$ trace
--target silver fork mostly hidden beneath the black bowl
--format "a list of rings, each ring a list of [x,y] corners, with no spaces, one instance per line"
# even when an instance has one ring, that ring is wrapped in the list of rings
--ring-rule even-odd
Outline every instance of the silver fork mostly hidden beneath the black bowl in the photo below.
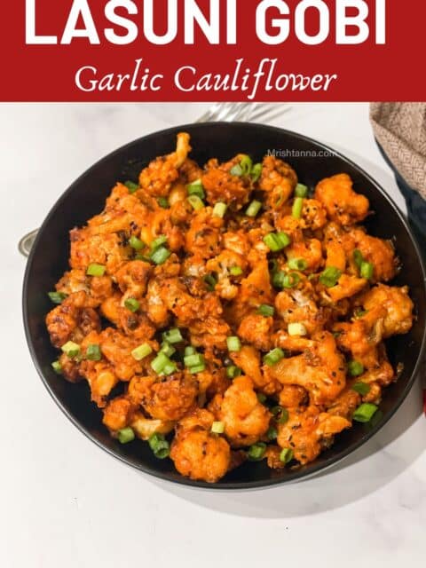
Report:
[[[215,103],[195,122],[269,122],[288,113],[290,108],[277,103]],[[38,229],[22,237],[18,244],[22,255],[29,255],[37,233]]]

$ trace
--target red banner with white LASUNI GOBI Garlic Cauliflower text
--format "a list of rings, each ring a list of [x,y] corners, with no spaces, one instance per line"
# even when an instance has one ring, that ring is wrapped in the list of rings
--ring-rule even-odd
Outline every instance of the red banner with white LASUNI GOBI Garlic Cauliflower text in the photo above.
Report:
[[[424,100],[426,6],[14,0],[4,101]]]

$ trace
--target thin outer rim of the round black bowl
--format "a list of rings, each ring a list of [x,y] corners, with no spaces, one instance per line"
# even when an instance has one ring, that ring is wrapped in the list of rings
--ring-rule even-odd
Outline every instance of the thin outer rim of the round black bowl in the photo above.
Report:
[[[57,395],[51,389],[46,377],[43,374],[43,370],[42,370],[42,368],[39,364],[37,354],[36,354],[36,346],[35,346],[35,343],[33,342],[32,335],[29,331],[29,324],[28,324],[29,307],[28,307],[28,302],[27,302],[27,300],[28,300],[29,275],[30,275],[30,272],[31,272],[32,264],[34,262],[34,258],[36,256],[36,250],[38,248],[38,243],[41,240],[41,237],[43,235],[44,230],[50,224],[51,217],[53,217],[55,215],[55,213],[56,213],[57,209],[59,209],[62,201],[65,201],[66,198],[67,198],[67,195],[74,191],[75,186],[78,185],[81,182],[83,177],[90,175],[92,170],[99,168],[99,166],[102,166],[102,164],[104,162],[110,160],[114,156],[117,156],[119,154],[124,153],[126,150],[130,149],[132,146],[136,146],[137,144],[139,144],[143,141],[149,140],[149,138],[155,138],[155,137],[158,137],[158,136],[168,136],[168,135],[171,137],[171,136],[175,136],[177,134],[177,132],[179,132],[179,131],[194,130],[194,129],[195,130],[202,130],[203,128],[211,128],[212,126],[218,127],[218,128],[230,128],[230,127],[232,128],[233,126],[237,126],[237,127],[243,127],[245,129],[253,129],[253,130],[259,130],[259,131],[268,130],[270,132],[271,131],[276,132],[277,135],[285,134],[287,136],[296,138],[298,140],[303,140],[304,142],[307,142],[307,143],[309,143],[313,146],[316,146],[318,149],[326,151],[326,152],[330,153],[331,155],[334,155],[335,157],[339,158],[343,162],[346,162],[349,165],[351,165],[351,167],[354,168],[355,170],[357,170],[361,176],[367,178],[368,182],[371,185],[375,186],[375,189],[381,194],[381,196],[383,197],[384,200],[388,201],[390,207],[397,214],[399,222],[406,229],[406,233],[409,235],[409,237],[412,241],[415,253],[417,255],[417,260],[420,264],[420,270],[422,272],[422,287],[424,288],[425,295],[426,295],[426,268],[425,268],[425,264],[424,264],[423,259],[422,259],[422,254],[421,254],[419,244],[418,244],[418,242],[417,242],[417,240],[414,236],[414,233],[413,233],[410,225],[408,224],[408,222],[406,220],[406,217],[404,217],[402,212],[398,209],[397,204],[395,203],[395,201],[393,201],[393,199],[390,197],[390,195],[384,191],[382,185],[380,185],[378,182],[376,182],[375,179],[373,177],[371,177],[367,173],[367,171],[363,170],[357,163],[353,162],[350,158],[346,157],[341,152],[336,151],[331,146],[327,146],[326,144],[319,142],[319,140],[304,136],[303,134],[300,134],[300,133],[295,132],[293,130],[282,129],[282,128],[279,128],[279,127],[269,126],[267,124],[261,124],[261,123],[256,123],[256,122],[198,122],[198,123],[197,122],[190,122],[190,123],[183,124],[183,125],[173,126],[173,127],[168,128],[168,129],[155,130],[154,132],[150,132],[146,136],[135,138],[134,140],[130,141],[129,143],[127,143],[123,146],[120,146],[119,148],[115,149],[114,151],[110,152],[109,154],[106,154],[105,156],[100,158],[97,162],[92,164],[90,168],[85,170],[79,177],[77,177],[75,179],[75,181],[71,185],[69,185],[67,187],[67,189],[63,193],[61,193],[59,195],[59,198],[52,205],[49,213],[44,218],[43,224],[40,226],[40,229],[39,229],[37,236],[36,236],[36,240],[33,244],[33,247],[31,248],[31,252],[28,256],[28,261],[27,261],[27,265],[26,265],[26,269],[25,269],[25,273],[24,273],[24,279],[23,279],[23,288],[22,288],[22,312],[23,312],[23,320],[24,320],[24,327],[25,327],[25,335],[26,335],[26,339],[27,339],[27,343],[28,343],[28,349],[30,351],[31,358],[33,359],[33,363],[36,367],[36,371],[37,371],[38,375],[40,376],[40,378],[41,378],[41,380],[44,384],[44,387],[46,388],[46,390],[51,395],[51,398],[53,398],[53,400],[55,401],[57,406],[59,406],[62,413],[67,416],[67,419],[70,422],[72,422],[75,425],[75,427],[84,434],[84,436],[86,438],[89,438],[91,440],[91,442],[96,444],[96,446],[99,446],[99,448],[104,450],[107,454],[112,455],[116,460],[122,461],[122,463],[125,463],[126,465],[130,466],[131,468],[138,469],[138,471],[141,471],[142,473],[145,473],[147,475],[157,477],[157,478],[160,478],[160,479],[165,480],[165,481],[169,481],[170,483],[173,483],[173,484],[185,485],[185,486],[198,488],[198,489],[210,489],[210,490],[213,489],[215,491],[230,491],[230,490],[244,491],[244,490],[260,489],[260,488],[265,489],[265,488],[271,488],[275,485],[286,485],[288,483],[292,483],[292,482],[296,482],[296,481],[302,481],[304,479],[308,479],[308,478],[315,476],[316,474],[319,473],[319,471],[325,471],[325,470],[331,468],[332,466],[335,466],[337,463],[343,461],[344,458],[346,458],[349,454],[352,454],[357,449],[359,449],[360,446],[363,446],[364,444],[366,444],[366,442],[370,438],[373,438],[379,430],[382,430],[382,428],[385,426],[385,424],[390,421],[390,418],[392,418],[392,416],[394,414],[396,414],[398,408],[402,405],[402,403],[406,399],[406,396],[408,395],[408,393],[410,392],[410,390],[412,389],[412,387],[415,383],[415,380],[417,378],[417,375],[419,373],[419,369],[420,369],[420,366],[421,366],[421,363],[422,363],[423,356],[424,356],[425,351],[426,351],[426,327],[423,329],[422,344],[421,344],[420,350],[417,354],[417,359],[416,359],[416,362],[415,362],[415,365],[414,365],[414,371],[413,371],[412,375],[410,376],[410,378],[407,380],[405,389],[399,395],[399,398],[396,401],[394,407],[392,408],[392,410],[388,414],[386,414],[384,419],[382,421],[380,421],[379,423],[377,423],[373,428],[366,431],[365,434],[361,438],[359,438],[359,440],[357,442],[351,444],[350,446],[345,448],[342,452],[340,452],[339,454],[337,454],[333,457],[330,457],[326,461],[321,461],[317,465],[310,466],[309,470],[305,470],[304,468],[301,468],[301,469],[295,469],[294,471],[288,471],[288,473],[286,473],[285,477],[276,477],[276,478],[271,478],[271,479],[248,481],[248,482],[244,482],[244,481],[229,481],[229,482],[224,481],[224,482],[219,482],[217,484],[209,484],[205,481],[194,481],[193,479],[189,479],[188,477],[179,476],[178,474],[177,474],[176,477],[170,477],[169,472],[163,472],[163,471],[151,469],[150,467],[146,466],[146,464],[141,463],[141,462],[136,461],[136,460],[133,460],[130,457],[120,455],[117,452],[115,452],[113,448],[109,448],[109,447],[105,446],[98,438],[93,436],[89,430],[86,430],[86,428],[77,419],[75,419],[75,417],[71,414],[71,412],[68,411],[66,406],[64,406],[64,404],[61,402],[59,397],[57,397]]]

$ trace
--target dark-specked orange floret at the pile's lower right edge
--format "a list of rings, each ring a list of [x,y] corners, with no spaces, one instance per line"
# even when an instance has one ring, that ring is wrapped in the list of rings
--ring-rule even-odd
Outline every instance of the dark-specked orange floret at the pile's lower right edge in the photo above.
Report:
[[[288,422],[278,424],[277,441],[281,448],[293,450],[295,459],[304,464],[315,460],[330,438],[350,426],[342,416],[309,406],[305,411],[290,412]]]

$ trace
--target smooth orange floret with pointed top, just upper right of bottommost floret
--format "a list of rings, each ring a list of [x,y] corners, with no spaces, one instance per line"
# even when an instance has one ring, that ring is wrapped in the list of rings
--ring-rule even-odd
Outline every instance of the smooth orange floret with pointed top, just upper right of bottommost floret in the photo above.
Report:
[[[253,381],[237,377],[223,397],[212,401],[217,408],[217,420],[225,424],[225,436],[233,447],[251,446],[269,428],[272,414],[256,396]]]

